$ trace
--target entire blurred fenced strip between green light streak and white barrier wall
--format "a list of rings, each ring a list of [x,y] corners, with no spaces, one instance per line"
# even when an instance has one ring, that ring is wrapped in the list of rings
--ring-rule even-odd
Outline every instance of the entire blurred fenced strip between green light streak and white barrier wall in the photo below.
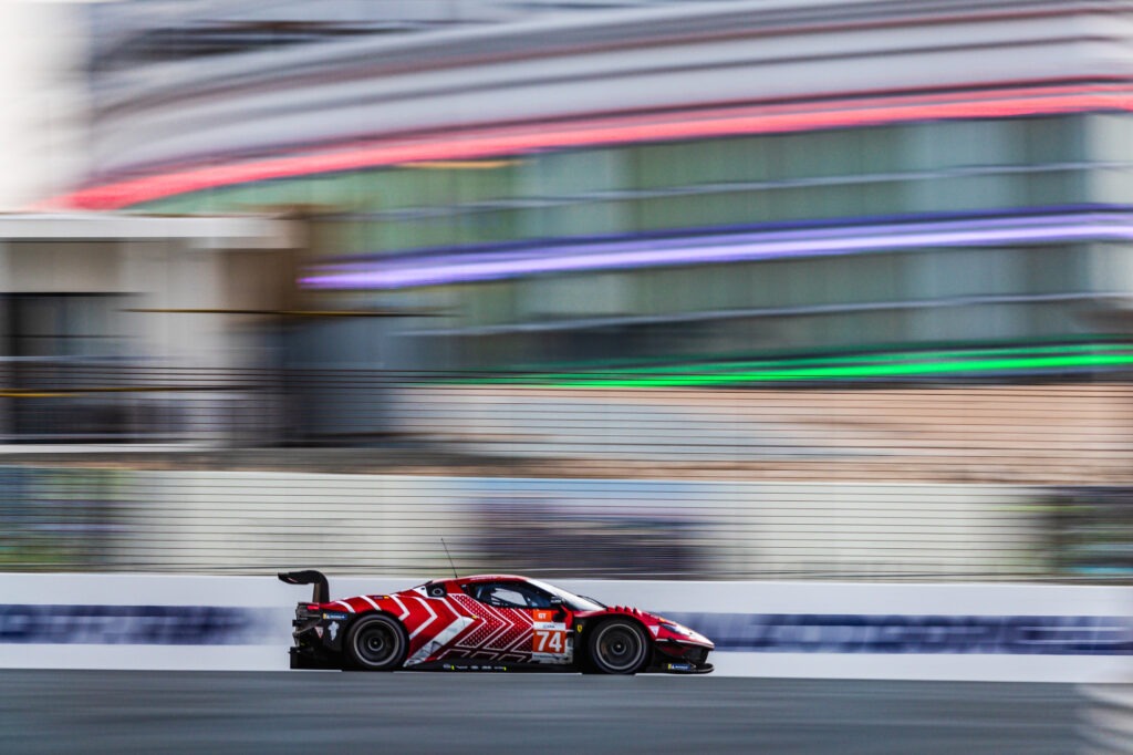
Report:
[[[117,407],[97,446],[69,432],[78,401]],[[0,568],[441,572],[444,536],[466,571],[1128,579],[1131,401],[1118,381],[73,374],[0,396]]]

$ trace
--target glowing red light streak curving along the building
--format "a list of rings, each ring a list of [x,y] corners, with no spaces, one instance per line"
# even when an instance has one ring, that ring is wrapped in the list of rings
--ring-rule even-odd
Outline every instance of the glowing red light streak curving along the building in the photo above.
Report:
[[[179,169],[90,186],[40,209],[116,210],[164,197],[254,181],[296,178],[407,162],[479,160],[582,146],[782,134],[923,120],[1013,118],[1133,110],[1128,86],[1047,86],[900,95],[480,128],[420,141],[377,141],[320,152],[224,166]]]

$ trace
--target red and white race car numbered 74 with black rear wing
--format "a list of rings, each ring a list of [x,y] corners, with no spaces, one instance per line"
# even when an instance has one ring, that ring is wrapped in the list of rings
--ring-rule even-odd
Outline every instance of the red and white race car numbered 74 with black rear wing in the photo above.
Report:
[[[330,600],[315,570],[296,609],[292,669],[708,673],[713,643],[662,617],[607,606],[536,579],[436,579],[390,595]]]

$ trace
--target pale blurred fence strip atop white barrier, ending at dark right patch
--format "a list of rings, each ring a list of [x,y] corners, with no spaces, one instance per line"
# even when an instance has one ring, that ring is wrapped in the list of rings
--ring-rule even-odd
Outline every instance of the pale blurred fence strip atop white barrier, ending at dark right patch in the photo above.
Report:
[[[1039,491],[996,485],[9,467],[10,568],[994,578],[1060,570]],[[1073,570],[1063,570],[1073,575]]]

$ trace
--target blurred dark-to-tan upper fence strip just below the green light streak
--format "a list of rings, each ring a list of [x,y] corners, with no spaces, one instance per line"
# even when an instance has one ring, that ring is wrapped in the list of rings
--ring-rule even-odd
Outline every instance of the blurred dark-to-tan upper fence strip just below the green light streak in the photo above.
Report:
[[[121,365],[24,366],[18,378],[0,388],[0,439],[28,448],[410,443],[561,476],[1133,484],[1133,384],[1113,378],[604,388]]]

